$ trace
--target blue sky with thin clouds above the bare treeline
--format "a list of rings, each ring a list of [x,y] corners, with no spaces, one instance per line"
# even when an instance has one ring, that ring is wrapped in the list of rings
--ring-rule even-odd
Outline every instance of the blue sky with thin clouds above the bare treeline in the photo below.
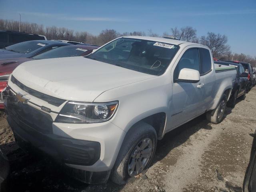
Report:
[[[0,18],[98,35],[192,26],[228,37],[231,51],[256,56],[256,0],[0,0]]]

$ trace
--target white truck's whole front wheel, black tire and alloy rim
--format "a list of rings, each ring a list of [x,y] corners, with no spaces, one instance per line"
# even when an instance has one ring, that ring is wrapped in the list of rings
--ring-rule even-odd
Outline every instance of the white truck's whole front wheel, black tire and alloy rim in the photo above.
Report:
[[[154,157],[156,143],[156,130],[151,125],[139,122],[132,126],[132,128],[127,132],[116,158],[115,165],[112,169],[111,180],[116,184],[126,184],[131,178],[134,178],[134,176],[140,173],[146,173]],[[142,144],[148,144],[144,150],[140,150],[139,148]],[[152,148],[152,150],[150,150],[150,148]],[[148,158],[142,157],[142,154],[140,153],[141,151],[150,151],[146,156]],[[136,163],[136,159],[137,161],[139,159],[141,164],[139,162]],[[143,168],[137,169],[138,165]]]

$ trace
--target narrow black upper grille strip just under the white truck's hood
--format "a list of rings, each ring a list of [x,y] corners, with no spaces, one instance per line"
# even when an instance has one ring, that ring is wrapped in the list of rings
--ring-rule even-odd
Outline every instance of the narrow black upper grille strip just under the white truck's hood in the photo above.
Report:
[[[40,98],[46,102],[48,102],[49,104],[52,104],[54,106],[60,106],[62,103],[64,103],[66,100],[64,99],[59,99],[50,95],[46,95],[44,93],[41,93],[39,91],[36,91],[34,89],[31,89],[29,87],[27,87],[26,85],[22,84],[21,82],[19,82],[13,75],[11,77],[11,82],[16,84],[19,88],[21,88],[22,90],[28,92],[30,95],[35,96],[37,98]]]

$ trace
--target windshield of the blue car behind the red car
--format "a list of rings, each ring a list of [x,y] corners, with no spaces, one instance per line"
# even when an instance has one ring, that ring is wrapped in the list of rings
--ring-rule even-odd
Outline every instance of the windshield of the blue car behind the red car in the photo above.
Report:
[[[42,43],[39,41],[25,41],[21,43],[17,43],[11,46],[6,47],[5,49],[8,51],[28,54],[34,50],[40,49],[44,46],[48,45],[48,43]]]

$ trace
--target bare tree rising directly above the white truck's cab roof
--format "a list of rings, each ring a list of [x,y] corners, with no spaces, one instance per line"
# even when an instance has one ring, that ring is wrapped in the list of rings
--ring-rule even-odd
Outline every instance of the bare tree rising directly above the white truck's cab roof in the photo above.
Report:
[[[192,40],[196,40],[196,29],[193,29],[190,26],[182,27],[180,30],[177,27],[171,28],[171,31],[174,38],[182,41],[191,42]]]

